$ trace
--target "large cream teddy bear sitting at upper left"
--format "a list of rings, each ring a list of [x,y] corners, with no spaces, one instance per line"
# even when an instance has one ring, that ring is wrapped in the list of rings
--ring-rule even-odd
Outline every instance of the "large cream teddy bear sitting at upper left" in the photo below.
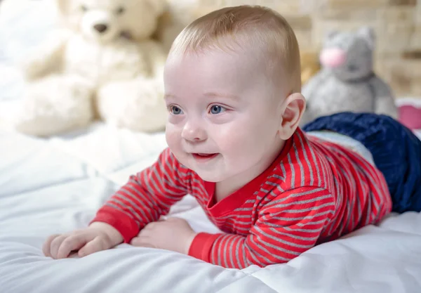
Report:
[[[25,60],[15,129],[51,136],[93,119],[164,129],[166,53],[152,39],[164,0],[54,0],[64,25]]]

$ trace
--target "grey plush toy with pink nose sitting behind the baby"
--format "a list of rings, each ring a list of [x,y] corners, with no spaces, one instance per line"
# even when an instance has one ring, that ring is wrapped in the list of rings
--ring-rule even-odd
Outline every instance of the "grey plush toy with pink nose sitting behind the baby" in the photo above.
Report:
[[[347,111],[397,117],[392,90],[373,72],[374,43],[370,27],[328,34],[320,54],[322,69],[302,87],[307,100],[302,125]]]

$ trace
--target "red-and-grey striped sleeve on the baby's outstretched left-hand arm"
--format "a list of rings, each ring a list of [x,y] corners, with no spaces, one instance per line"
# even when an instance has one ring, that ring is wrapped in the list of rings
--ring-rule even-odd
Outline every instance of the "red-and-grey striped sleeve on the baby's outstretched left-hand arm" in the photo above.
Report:
[[[113,226],[128,243],[139,231],[168,214],[171,206],[187,195],[187,174],[167,148],[151,167],[130,176],[91,221]]]

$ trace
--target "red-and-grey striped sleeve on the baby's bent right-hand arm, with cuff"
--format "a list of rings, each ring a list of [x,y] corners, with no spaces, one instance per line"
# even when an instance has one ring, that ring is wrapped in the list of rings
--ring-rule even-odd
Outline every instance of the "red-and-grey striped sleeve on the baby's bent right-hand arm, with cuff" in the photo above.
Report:
[[[334,209],[326,189],[289,190],[260,209],[249,235],[199,233],[189,255],[226,268],[285,263],[316,245]]]

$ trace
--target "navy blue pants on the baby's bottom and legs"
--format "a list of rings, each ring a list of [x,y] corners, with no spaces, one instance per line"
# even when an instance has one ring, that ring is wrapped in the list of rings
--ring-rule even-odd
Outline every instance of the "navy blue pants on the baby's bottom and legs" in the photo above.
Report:
[[[363,143],[386,178],[392,211],[421,211],[421,141],[406,126],[386,115],[340,112],[319,117],[302,130],[335,131]]]

